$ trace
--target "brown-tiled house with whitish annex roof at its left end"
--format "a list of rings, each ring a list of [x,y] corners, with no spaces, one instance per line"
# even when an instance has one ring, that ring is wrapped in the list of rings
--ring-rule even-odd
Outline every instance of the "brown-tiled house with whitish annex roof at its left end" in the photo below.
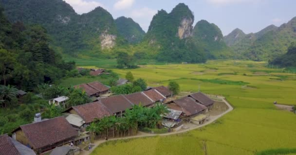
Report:
[[[85,130],[85,127],[96,119],[102,119],[112,115],[112,112],[101,102],[92,102],[84,105],[74,106],[66,111],[67,121],[76,128]],[[68,114],[67,114],[68,113]]]

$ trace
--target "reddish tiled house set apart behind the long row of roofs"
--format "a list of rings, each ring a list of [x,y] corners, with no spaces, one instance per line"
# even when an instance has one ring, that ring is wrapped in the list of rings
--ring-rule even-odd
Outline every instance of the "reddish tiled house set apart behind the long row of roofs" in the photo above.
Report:
[[[76,85],[74,88],[81,88],[90,97],[97,97],[99,95],[109,93],[109,87],[97,81]]]

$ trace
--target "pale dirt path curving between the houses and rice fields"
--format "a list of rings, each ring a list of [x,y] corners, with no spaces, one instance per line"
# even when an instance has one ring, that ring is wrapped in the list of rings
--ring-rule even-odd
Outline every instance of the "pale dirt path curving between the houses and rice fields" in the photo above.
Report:
[[[184,133],[184,132],[187,132],[187,131],[190,131],[190,130],[194,130],[194,129],[203,127],[205,125],[211,124],[214,121],[216,121],[217,119],[219,119],[220,117],[222,117],[223,115],[225,115],[226,113],[228,113],[231,110],[233,110],[233,107],[231,107],[231,105],[224,99],[224,97],[218,96],[218,98],[219,99],[222,99],[222,102],[224,102],[228,106],[228,109],[226,111],[224,111],[223,113],[219,114],[219,115],[210,116],[210,120],[207,121],[207,122],[205,122],[205,123],[203,123],[203,124],[200,124],[200,125],[197,125],[197,126],[194,126],[194,127],[190,127],[190,128],[187,128],[187,129],[183,129],[183,130],[180,130],[180,131],[165,133],[165,134],[149,134],[149,133],[139,132],[139,135],[136,135],[136,136],[129,136],[129,137],[123,137],[123,138],[114,138],[114,139],[109,139],[108,141],[110,141],[110,140],[127,140],[127,139],[141,138],[141,137],[168,136],[168,135],[174,135],[174,134]],[[90,150],[90,151],[82,150],[80,152],[80,155],[90,155],[92,153],[92,151],[97,146],[99,146],[100,144],[102,144],[104,142],[106,142],[106,140],[97,140],[97,141],[95,141],[94,143],[92,143],[92,145],[94,145],[92,147],[92,150]]]

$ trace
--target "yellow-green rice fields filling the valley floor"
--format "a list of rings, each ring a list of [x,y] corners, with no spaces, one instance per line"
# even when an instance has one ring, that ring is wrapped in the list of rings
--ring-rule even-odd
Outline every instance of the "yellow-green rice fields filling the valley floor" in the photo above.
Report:
[[[113,70],[122,76],[131,71],[136,78],[146,79],[149,86],[167,85],[168,81],[175,80],[181,92],[197,92],[200,86],[204,93],[225,96],[234,110],[213,124],[184,134],[109,141],[99,145],[92,155],[122,152],[129,155],[255,155],[270,149],[295,150],[296,115],[279,110],[273,104],[274,101],[295,104],[295,74],[252,61],[145,65],[132,70]],[[203,74],[194,74],[196,72]],[[257,72],[266,75],[257,75]]]

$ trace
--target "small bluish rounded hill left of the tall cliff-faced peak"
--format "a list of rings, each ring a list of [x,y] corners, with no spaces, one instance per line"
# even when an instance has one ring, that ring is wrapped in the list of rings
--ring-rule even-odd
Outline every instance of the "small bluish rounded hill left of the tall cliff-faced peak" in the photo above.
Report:
[[[145,31],[131,18],[121,16],[115,19],[115,23],[118,33],[124,36],[129,43],[135,44],[143,40]]]

